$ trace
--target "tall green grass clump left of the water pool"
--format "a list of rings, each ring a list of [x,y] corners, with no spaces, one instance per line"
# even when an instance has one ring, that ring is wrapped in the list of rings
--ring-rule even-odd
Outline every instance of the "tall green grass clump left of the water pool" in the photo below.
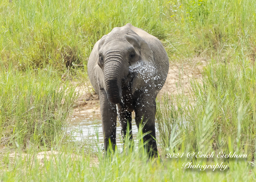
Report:
[[[1,145],[61,142],[76,98],[74,88],[65,86],[51,67],[21,72],[1,65],[0,70]]]

